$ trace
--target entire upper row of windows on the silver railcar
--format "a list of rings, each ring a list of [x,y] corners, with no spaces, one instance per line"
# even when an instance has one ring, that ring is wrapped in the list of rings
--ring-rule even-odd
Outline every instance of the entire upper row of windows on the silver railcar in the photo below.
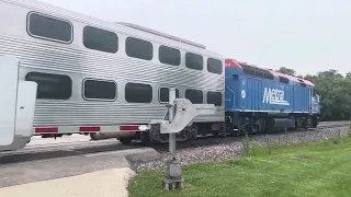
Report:
[[[73,25],[66,20],[55,19],[48,15],[31,12],[29,14],[29,34],[36,38],[48,39],[70,44],[72,42]],[[115,54],[118,50],[118,36],[114,32],[86,26],[83,28],[83,45],[93,50]],[[135,37],[125,40],[125,53],[127,56],[144,60],[154,57],[152,44]],[[159,47],[159,61],[171,66],[180,66],[181,53],[179,49],[161,45]],[[185,67],[194,70],[203,70],[203,56],[186,53]],[[223,62],[218,59],[207,59],[207,71],[222,74]]]

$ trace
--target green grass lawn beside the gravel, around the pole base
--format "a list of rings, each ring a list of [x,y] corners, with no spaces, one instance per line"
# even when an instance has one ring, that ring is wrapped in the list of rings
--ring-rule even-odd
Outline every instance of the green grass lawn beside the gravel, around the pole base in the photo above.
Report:
[[[143,171],[129,196],[351,196],[351,137],[247,150],[239,159],[182,165],[182,190],[162,189],[163,167]]]

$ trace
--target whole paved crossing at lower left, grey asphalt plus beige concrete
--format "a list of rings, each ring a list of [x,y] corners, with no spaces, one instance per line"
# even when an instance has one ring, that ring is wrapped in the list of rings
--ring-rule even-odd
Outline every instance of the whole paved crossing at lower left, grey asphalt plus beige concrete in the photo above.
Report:
[[[131,162],[159,157],[151,148],[2,164],[0,157],[0,197],[125,197]]]

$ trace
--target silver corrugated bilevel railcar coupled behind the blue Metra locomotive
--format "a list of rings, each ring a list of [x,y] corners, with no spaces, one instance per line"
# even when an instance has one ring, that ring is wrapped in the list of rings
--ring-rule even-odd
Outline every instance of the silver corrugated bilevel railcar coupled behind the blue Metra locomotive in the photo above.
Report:
[[[223,130],[224,58],[200,44],[34,0],[0,0],[0,55],[15,56],[19,79],[38,85],[35,135],[167,141],[144,126],[163,118],[169,88],[217,107],[179,140]]]

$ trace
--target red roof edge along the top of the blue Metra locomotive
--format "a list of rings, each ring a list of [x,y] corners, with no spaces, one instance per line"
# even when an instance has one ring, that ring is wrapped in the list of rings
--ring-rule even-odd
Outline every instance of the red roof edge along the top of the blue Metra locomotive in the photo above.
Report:
[[[313,85],[315,86],[315,84],[308,80],[305,80],[305,79],[301,79],[301,78],[297,78],[297,77],[293,77],[293,76],[288,76],[288,74],[284,74],[284,73],[280,73],[280,72],[276,72],[276,71],[273,71],[273,70],[270,70],[270,69],[265,69],[265,68],[261,68],[261,67],[257,67],[257,66],[252,66],[252,65],[248,65],[246,62],[240,62],[240,61],[237,61],[235,59],[226,59],[226,67],[227,68],[242,68],[240,66],[240,63],[242,65],[247,65],[247,66],[250,66],[250,67],[253,67],[253,68],[260,68],[262,70],[267,70],[269,72],[271,72],[273,76],[275,77],[284,77],[284,78],[287,78],[288,80],[291,81],[295,81],[295,82],[304,82],[308,85]]]

